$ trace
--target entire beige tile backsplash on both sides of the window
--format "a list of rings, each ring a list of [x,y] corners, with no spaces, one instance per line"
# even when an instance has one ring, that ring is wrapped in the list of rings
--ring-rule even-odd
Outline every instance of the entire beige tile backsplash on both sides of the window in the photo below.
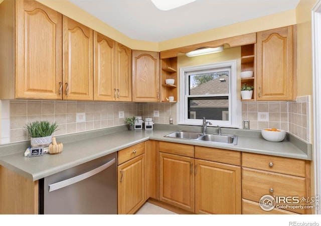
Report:
[[[280,128],[310,143],[310,101],[310,96],[301,96],[296,101],[242,102],[242,120],[250,121],[250,130]],[[119,111],[124,111],[125,118],[153,118],[159,124],[169,124],[172,116],[177,124],[179,108],[178,103],[63,100],[3,100],[1,104],[0,144],[29,140],[25,126],[37,120],[58,122],[56,136],[125,125],[124,119],[119,119]],[[158,111],[158,117],[153,117],[154,111]],[[81,112],[85,122],[76,120]]]

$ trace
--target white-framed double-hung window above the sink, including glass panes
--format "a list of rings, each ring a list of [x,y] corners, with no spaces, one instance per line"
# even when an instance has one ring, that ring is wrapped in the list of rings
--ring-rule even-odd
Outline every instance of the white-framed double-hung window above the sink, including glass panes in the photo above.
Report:
[[[236,60],[180,69],[180,124],[241,128],[236,90]]]

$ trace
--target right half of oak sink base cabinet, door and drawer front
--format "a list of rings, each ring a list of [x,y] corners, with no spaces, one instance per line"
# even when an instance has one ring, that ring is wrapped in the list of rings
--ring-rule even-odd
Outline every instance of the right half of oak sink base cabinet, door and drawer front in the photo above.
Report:
[[[241,153],[195,146],[195,212],[241,214]]]

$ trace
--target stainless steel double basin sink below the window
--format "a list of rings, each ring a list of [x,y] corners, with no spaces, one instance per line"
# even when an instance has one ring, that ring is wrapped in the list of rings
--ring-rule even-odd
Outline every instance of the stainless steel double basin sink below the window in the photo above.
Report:
[[[203,134],[188,131],[176,131],[174,133],[168,134],[165,137],[184,139],[190,141],[200,141],[200,142],[210,142],[215,144],[225,144],[225,145],[236,145],[237,136],[225,135],[225,134]]]

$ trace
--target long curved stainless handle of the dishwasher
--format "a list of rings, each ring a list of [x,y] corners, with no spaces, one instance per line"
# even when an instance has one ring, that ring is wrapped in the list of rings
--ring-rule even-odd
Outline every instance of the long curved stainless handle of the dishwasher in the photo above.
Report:
[[[54,183],[54,184],[49,184],[48,185],[48,191],[51,192],[51,191],[55,191],[55,190],[58,190],[60,188],[63,188],[63,187],[66,187],[68,185],[71,185],[71,184],[74,184],[74,183],[77,183],[79,181],[82,181],[84,179],[87,179],[88,177],[91,177],[97,173],[100,173],[101,171],[107,169],[108,167],[110,167],[111,165],[113,165],[114,163],[116,163],[116,158],[113,158],[112,160],[110,160],[109,162],[105,163],[104,165],[101,165],[93,170],[90,170],[86,173],[83,173],[83,174],[80,174],[78,176],[75,176],[75,177],[72,177],[72,178],[69,178],[67,180],[63,180],[63,181],[60,181],[60,182],[57,182],[57,183]]]

